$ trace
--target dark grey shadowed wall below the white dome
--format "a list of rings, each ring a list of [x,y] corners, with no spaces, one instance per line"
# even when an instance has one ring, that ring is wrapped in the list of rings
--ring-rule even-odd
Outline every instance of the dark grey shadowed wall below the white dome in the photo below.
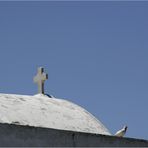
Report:
[[[0,146],[148,147],[148,141],[0,123]]]

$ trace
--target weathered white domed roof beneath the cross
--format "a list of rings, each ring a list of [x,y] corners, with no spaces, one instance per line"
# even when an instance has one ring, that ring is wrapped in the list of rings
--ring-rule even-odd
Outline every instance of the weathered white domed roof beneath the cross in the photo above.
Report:
[[[0,94],[0,123],[110,135],[104,125],[82,107],[41,94]]]

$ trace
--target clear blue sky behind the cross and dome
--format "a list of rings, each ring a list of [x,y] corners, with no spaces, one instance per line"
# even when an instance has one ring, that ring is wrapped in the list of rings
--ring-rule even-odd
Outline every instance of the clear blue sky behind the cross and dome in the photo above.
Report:
[[[115,133],[148,139],[148,2],[0,2],[0,92],[79,104]]]

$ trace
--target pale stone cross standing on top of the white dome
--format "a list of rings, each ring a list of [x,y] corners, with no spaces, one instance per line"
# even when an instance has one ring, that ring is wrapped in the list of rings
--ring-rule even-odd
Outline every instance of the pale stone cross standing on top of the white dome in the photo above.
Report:
[[[39,67],[38,73],[34,77],[34,82],[38,84],[38,93],[44,94],[44,82],[48,79],[48,74],[44,73],[44,68]]]

